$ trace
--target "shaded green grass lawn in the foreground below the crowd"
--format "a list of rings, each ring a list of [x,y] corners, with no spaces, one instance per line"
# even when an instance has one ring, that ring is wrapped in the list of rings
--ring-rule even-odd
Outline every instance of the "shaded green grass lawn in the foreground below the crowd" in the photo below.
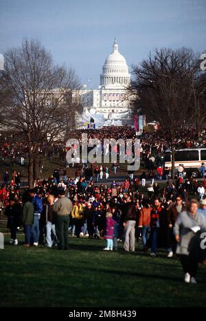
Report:
[[[104,241],[70,238],[70,250],[0,250],[1,307],[205,307],[205,267],[185,285],[176,258],[103,252]],[[23,236],[20,236],[23,240]]]

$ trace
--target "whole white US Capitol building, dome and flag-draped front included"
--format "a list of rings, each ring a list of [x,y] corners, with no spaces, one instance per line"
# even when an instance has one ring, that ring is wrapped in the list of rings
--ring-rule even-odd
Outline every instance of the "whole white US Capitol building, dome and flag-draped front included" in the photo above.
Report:
[[[84,104],[81,121],[88,122],[91,116],[96,126],[132,124],[126,92],[129,84],[128,65],[124,56],[119,53],[115,40],[113,51],[102,67],[99,89],[88,89],[87,85],[80,89],[80,97]]]

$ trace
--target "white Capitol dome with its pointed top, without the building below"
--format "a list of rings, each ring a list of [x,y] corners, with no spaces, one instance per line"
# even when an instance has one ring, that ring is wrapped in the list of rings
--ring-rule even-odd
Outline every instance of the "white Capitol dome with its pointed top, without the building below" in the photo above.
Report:
[[[116,41],[113,44],[113,52],[108,55],[102,67],[100,75],[101,87],[125,87],[130,83],[128,65],[122,54],[119,54]]]

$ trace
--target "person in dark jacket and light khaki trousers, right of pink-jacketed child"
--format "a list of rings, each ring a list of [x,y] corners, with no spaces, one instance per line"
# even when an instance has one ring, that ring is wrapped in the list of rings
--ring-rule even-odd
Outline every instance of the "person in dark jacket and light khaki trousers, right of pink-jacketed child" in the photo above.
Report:
[[[137,209],[130,197],[127,198],[122,216],[124,226],[124,250],[135,252],[135,225],[137,221]]]

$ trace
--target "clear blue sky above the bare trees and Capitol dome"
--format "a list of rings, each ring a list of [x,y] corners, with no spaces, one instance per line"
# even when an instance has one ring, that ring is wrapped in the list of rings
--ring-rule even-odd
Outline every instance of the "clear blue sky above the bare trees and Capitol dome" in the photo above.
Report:
[[[130,70],[154,48],[206,52],[205,12],[206,0],[0,0],[0,53],[38,38],[94,89],[115,37]]]

